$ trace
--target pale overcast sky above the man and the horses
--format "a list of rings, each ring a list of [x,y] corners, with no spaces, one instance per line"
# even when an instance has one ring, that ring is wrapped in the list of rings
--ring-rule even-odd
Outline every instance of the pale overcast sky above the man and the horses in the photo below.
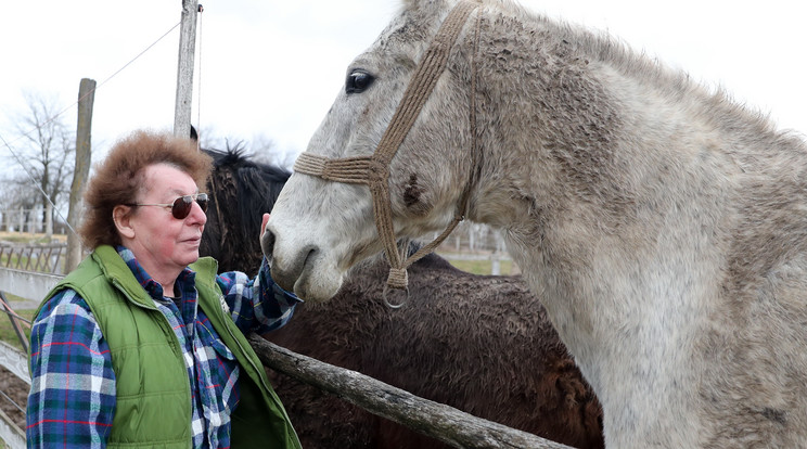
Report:
[[[93,163],[134,129],[174,126],[180,0],[7,1],[0,13],[0,137],[20,144],[25,93],[53,99],[75,128],[81,78],[98,82]],[[400,0],[202,0],[193,125],[249,146],[271,139],[291,164],[306,149]],[[780,128],[807,133],[807,3],[524,0],[555,18],[606,30],[721,86]],[[176,27],[175,27],[176,26]],[[161,39],[162,37],[162,39]],[[156,43],[155,43],[156,42]],[[148,50],[146,50],[148,49]],[[142,53],[142,54],[141,54]],[[204,136],[203,136],[204,137]],[[7,169],[12,151],[0,144]],[[283,159],[282,157],[280,159]]]

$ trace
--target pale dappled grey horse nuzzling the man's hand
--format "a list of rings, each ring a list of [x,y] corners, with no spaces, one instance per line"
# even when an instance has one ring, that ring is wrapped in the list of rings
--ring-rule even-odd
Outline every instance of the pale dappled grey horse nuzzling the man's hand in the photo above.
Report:
[[[454,3],[405,2],[310,156],[373,154]],[[450,48],[389,163],[395,238],[446,228],[465,194],[466,218],[503,229],[607,446],[807,447],[807,144],[507,0],[483,1]],[[302,172],[267,231],[273,278],[312,302],[384,248],[367,187]]]

